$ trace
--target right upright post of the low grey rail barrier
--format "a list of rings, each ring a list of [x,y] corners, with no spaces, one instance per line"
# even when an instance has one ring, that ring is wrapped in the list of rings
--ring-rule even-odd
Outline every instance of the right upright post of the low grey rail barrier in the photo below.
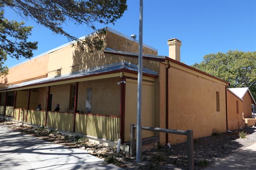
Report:
[[[194,139],[193,130],[187,130],[188,170],[194,170]]]

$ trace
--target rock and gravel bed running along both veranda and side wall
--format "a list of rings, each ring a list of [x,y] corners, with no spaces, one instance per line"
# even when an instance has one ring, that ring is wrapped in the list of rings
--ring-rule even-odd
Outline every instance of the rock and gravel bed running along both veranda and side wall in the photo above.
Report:
[[[107,158],[111,153],[116,152],[114,147],[98,146],[87,140],[79,142],[79,138],[61,135],[57,131],[50,131],[42,128],[34,128],[27,125],[17,125],[16,122],[0,122],[0,124],[10,125],[13,130],[19,130],[49,140],[54,143],[62,144],[71,148],[86,149],[90,154],[99,158]],[[16,124],[16,125],[12,125]],[[239,132],[244,131],[248,135],[246,138],[239,138]],[[243,128],[233,132],[214,134],[203,138],[194,139],[194,166],[201,169],[219,161],[236,150],[256,143],[256,128]],[[142,163],[136,163],[134,157],[128,153],[122,153],[116,159],[121,162],[121,167],[126,170],[169,170],[186,169],[186,143],[172,145],[171,148],[159,146],[150,151],[142,153]]]

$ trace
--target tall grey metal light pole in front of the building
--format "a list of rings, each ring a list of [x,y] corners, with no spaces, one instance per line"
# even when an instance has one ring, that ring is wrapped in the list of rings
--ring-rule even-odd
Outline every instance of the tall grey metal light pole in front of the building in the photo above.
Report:
[[[137,93],[137,140],[136,162],[141,162],[141,107],[142,107],[142,30],[143,30],[143,0],[140,0],[140,30],[139,30],[139,57],[138,57],[138,93]]]

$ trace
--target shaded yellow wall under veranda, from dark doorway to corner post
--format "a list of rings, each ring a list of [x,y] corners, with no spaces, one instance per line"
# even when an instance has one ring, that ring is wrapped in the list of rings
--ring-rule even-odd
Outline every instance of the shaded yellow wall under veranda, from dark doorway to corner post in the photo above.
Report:
[[[85,113],[86,89],[92,88],[92,113],[102,115],[119,115],[120,87],[116,83],[119,77],[83,81],[78,84],[78,111]],[[75,85],[75,83],[73,83]],[[61,112],[74,112],[69,109],[70,83],[51,86],[52,111],[60,104]]]

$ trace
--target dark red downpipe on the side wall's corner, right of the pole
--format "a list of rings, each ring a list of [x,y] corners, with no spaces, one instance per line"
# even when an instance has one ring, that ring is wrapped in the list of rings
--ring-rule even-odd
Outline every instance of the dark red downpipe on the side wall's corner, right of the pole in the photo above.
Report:
[[[168,64],[168,67],[166,67],[166,94],[165,94],[165,99],[166,99],[166,128],[169,128],[169,69],[171,65]],[[166,133],[166,143],[169,142],[169,134]]]

